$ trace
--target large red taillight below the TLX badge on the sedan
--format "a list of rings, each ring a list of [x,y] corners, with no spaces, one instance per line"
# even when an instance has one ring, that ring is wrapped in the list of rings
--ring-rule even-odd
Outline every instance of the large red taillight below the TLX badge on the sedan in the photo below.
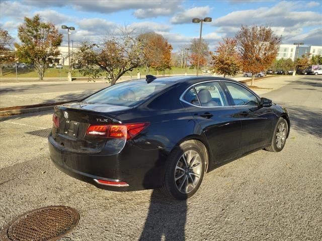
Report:
[[[144,130],[148,123],[134,123],[124,125],[91,125],[86,132],[87,136],[106,137],[129,140]]]

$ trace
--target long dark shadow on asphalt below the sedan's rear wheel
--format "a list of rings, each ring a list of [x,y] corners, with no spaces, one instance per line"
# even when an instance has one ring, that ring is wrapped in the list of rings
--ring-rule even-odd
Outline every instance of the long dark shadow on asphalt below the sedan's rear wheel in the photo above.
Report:
[[[140,241],[184,241],[187,202],[165,196],[154,189]]]

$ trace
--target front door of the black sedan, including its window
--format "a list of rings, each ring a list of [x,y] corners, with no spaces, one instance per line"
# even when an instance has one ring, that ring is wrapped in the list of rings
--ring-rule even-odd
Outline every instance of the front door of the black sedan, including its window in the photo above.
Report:
[[[235,118],[241,122],[240,153],[261,148],[271,140],[273,119],[270,107],[263,107],[260,98],[244,85],[223,81],[228,101],[236,109]]]

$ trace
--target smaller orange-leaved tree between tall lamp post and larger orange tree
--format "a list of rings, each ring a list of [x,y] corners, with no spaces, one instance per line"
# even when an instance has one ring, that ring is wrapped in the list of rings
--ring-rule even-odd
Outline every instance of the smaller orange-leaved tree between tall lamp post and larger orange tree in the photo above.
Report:
[[[236,52],[235,39],[223,39],[223,43],[219,43],[215,54],[212,54],[211,66],[214,72],[226,75],[236,75],[239,71],[240,61]]]

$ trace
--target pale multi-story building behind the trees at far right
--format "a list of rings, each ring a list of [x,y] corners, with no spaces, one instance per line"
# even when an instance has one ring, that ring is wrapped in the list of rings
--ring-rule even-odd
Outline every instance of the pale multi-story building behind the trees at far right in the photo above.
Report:
[[[303,54],[310,53],[310,57],[322,55],[322,46],[281,44],[278,50],[276,59],[291,59],[301,58]]]

